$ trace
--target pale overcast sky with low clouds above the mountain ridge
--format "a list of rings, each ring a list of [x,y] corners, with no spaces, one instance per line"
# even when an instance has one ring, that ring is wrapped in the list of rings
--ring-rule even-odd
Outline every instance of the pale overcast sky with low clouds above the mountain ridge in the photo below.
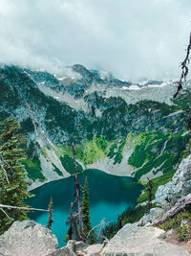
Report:
[[[190,21],[191,0],[0,0],[0,61],[175,78]]]

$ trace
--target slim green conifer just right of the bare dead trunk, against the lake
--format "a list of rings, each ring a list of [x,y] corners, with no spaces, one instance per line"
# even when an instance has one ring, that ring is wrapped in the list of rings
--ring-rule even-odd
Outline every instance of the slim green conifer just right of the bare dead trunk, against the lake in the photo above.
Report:
[[[83,189],[83,198],[82,198],[82,213],[83,213],[83,227],[84,234],[89,235],[89,232],[92,230],[90,222],[90,208],[89,208],[89,191],[88,191],[88,178],[85,178],[85,184]],[[94,231],[90,235],[90,243],[95,243],[95,234]]]

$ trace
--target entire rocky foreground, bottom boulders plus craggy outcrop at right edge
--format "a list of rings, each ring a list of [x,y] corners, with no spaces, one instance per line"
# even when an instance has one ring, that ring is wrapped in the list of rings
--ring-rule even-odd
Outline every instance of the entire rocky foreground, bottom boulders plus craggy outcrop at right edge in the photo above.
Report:
[[[168,243],[168,232],[152,225],[172,217],[191,200],[191,154],[183,159],[172,181],[156,193],[157,208],[137,223],[126,224],[108,244],[88,245],[70,241],[57,248],[57,239],[34,221],[15,221],[0,236],[2,256],[187,256],[183,247]],[[159,217],[160,216],[160,217]],[[163,219],[162,219],[163,218]],[[142,226],[144,225],[144,226]],[[150,226],[149,226],[150,225]],[[191,243],[190,243],[191,244]]]

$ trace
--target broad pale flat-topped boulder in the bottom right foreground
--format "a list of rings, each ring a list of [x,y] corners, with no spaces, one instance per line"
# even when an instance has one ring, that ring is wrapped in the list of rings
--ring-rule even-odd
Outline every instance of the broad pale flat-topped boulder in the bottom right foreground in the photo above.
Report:
[[[156,227],[126,224],[101,251],[101,256],[188,256],[186,250],[168,244],[162,238],[165,231]]]

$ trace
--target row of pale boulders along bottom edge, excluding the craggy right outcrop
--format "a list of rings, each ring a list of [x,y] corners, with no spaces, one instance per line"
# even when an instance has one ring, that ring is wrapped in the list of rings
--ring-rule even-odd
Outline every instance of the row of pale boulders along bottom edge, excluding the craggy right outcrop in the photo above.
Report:
[[[34,221],[15,221],[0,237],[3,256],[187,256],[185,249],[164,241],[166,232],[156,227],[126,224],[108,244],[70,241],[57,248],[57,239]]]

